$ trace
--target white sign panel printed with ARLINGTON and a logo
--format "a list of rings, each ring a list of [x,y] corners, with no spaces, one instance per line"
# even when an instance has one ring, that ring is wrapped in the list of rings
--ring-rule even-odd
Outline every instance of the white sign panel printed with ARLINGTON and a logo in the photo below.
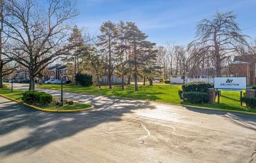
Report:
[[[214,77],[214,88],[246,89],[246,77]]]

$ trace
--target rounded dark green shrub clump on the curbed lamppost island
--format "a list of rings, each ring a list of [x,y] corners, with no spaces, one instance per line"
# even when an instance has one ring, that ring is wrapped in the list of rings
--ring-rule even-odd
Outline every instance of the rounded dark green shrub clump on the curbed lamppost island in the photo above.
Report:
[[[41,103],[45,105],[53,100],[50,94],[39,91],[26,91],[23,92],[22,95],[23,97],[21,99],[27,103]]]

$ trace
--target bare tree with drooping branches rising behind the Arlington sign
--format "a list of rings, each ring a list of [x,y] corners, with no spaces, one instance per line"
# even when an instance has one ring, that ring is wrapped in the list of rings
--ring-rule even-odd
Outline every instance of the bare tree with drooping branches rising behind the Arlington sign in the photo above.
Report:
[[[222,64],[235,52],[244,54],[244,47],[248,47],[246,38],[236,23],[233,11],[227,13],[216,12],[210,19],[203,19],[196,25],[197,39],[188,47],[200,48],[200,54],[212,54],[217,76],[221,76]]]

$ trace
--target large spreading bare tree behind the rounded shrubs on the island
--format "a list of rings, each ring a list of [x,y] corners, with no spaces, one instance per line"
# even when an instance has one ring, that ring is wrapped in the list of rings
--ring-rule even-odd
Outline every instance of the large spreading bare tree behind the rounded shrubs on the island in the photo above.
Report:
[[[35,89],[38,73],[71,49],[67,46],[69,20],[78,14],[76,4],[76,0],[48,0],[40,6],[35,0],[6,0],[9,17],[3,22],[9,28],[5,34],[12,51],[3,54],[29,70],[29,90]],[[50,55],[38,60],[45,54]]]

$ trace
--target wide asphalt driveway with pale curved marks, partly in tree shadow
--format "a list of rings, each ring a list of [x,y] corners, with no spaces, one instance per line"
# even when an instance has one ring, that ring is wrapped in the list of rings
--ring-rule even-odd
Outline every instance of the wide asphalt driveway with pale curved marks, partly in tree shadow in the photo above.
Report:
[[[256,163],[256,116],[65,91],[64,98],[95,109],[47,113],[0,98],[0,163]]]

